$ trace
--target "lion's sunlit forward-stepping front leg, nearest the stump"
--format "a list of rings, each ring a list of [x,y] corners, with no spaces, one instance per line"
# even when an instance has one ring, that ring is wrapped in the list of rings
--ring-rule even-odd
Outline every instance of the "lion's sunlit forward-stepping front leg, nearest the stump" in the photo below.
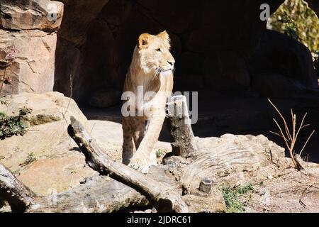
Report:
[[[159,138],[159,133],[162,130],[165,116],[152,116],[148,125],[145,136],[140,143],[138,150],[130,160],[130,167],[139,170],[142,173],[147,173],[150,165],[154,163],[152,156],[154,156],[154,147]]]

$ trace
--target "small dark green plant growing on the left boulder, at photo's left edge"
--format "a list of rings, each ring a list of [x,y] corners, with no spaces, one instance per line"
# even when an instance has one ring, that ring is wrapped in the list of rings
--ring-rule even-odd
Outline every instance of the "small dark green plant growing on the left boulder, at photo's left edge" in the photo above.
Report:
[[[21,117],[30,114],[31,111],[31,109],[23,107],[19,109],[18,116],[6,116],[6,114],[0,113],[0,140],[26,133],[26,126],[22,123]]]

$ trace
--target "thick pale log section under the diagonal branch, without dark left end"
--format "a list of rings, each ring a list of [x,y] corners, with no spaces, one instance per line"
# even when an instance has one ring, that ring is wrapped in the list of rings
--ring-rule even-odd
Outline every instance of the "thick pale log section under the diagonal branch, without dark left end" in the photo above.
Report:
[[[67,192],[36,198],[26,212],[104,213],[148,205],[145,196],[135,189],[108,177],[96,176]]]

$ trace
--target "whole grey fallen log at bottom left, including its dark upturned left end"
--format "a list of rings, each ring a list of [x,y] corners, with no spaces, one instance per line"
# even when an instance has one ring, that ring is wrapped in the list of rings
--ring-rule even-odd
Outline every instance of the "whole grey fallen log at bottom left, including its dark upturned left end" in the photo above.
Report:
[[[36,196],[0,165],[0,199],[7,201],[13,212],[114,212],[130,206],[150,206],[145,196],[135,189],[110,179],[92,177],[85,184],[67,192]]]

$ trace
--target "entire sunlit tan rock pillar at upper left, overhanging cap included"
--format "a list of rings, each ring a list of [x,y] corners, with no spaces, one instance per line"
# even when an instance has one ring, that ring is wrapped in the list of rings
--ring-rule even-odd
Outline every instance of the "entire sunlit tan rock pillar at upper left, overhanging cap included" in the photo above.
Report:
[[[57,11],[54,18],[50,16],[50,4]],[[55,31],[60,27],[62,15],[63,4],[58,1],[1,1],[1,94],[52,91]]]

